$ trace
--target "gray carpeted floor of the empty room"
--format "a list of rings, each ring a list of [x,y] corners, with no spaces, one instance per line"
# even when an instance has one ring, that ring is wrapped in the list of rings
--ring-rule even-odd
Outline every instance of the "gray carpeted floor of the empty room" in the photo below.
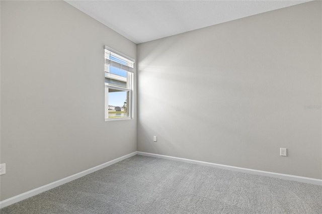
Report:
[[[322,213],[322,186],[134,156],[8,213]]]

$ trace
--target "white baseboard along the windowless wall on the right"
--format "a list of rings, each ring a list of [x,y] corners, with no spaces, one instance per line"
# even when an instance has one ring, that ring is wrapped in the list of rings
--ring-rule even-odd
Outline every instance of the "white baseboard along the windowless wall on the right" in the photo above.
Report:
[[[196,160],[190,160],[185,158],[177,158],[172,156],[166,156],[166,155],[158,155],[158,154],[152,154],[147,152],[137,152],[137,155],[142,156],[149,156],[154,158],[163,158],[168,160],[175,160],[175,161],[182,161],[186,163],[193,163],[193,164],[199,164],[204,166],[212,166],[217,167],[221,169],[228,169],[238,172],[245,172],[245,173],[251,173],[256,175],[264,175],[269,177],[275,177],[275,178],[282,178],[286,180],[293,180],[293,181],[299,181],[304,183],[310,183],[310,184],[317,184],[322,185],[322,179],[315,179],[315,178],[308,178],[308,177],[301,177],[296,175],[288,175],[288,174],[281,174],[281,173],[275,173],[275,172],[267,172],[267,171],[261,171],[261,170],[255,170],[255,169],[247,169],[247,168],[241,168],[241,167],[235,167],[235,166],[228,166],[228,165],[222,165],[222,164],[215,164],[215,163],[209,163],[209,162],[203,162],[203,161],[196,161]]]

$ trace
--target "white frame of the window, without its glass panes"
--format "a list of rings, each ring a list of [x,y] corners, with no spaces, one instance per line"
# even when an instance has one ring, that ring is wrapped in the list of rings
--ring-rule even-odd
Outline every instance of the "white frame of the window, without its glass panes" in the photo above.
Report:
[[[108,66],[108,70],[110,70],[110,66],[118,67],[124,71],[127,71],[127,87],[121,87],[121,86],[115,86],[115,85],[109,85],[105,82],[105,121],[117,121],[117,120],[132,120],[133,119],[133,76],[134,76],[134,62],[135,60],[131,57],[128,57],[108,46],[105,46],[105,51],[109,51],[113,54],[119,55],[123,58],[125,58],[127,61],[131,62],[132,66],[128,67],[126,65],[118,64],[117,62],[114,62],[112,60],[106,59],[105,57],[105,65],[104,65],[104,73],[105,73],[105,66]],[[104,55],[105,55],[104,51]],[[105,78],[105,74],[104,74]],[[126,100],[127,104],[127,112],[128,117],[122,117],[122,118],[108,118],[109,117],[109,111],[108,111],[108,95],[109,95],[109,88],[116,89],[120,91],[126,91],[128,92],[128,100]]]

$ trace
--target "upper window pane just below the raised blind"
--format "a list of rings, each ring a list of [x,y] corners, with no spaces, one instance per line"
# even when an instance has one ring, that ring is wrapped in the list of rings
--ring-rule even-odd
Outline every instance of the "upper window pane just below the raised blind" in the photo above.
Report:
[[[130,72],[110,66],[109,69],[105,69],[105,82],[108,83],[108,85],[128,88],[129,77],[131,75],[132,73]]]

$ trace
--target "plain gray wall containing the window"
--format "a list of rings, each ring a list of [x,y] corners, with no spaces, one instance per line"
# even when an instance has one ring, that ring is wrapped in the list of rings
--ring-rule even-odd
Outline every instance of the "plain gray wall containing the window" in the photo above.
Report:
[[[136,151],[136,120],[104,121],[104,45],[136,58],[65,2],[1,1],[1,200]]]

